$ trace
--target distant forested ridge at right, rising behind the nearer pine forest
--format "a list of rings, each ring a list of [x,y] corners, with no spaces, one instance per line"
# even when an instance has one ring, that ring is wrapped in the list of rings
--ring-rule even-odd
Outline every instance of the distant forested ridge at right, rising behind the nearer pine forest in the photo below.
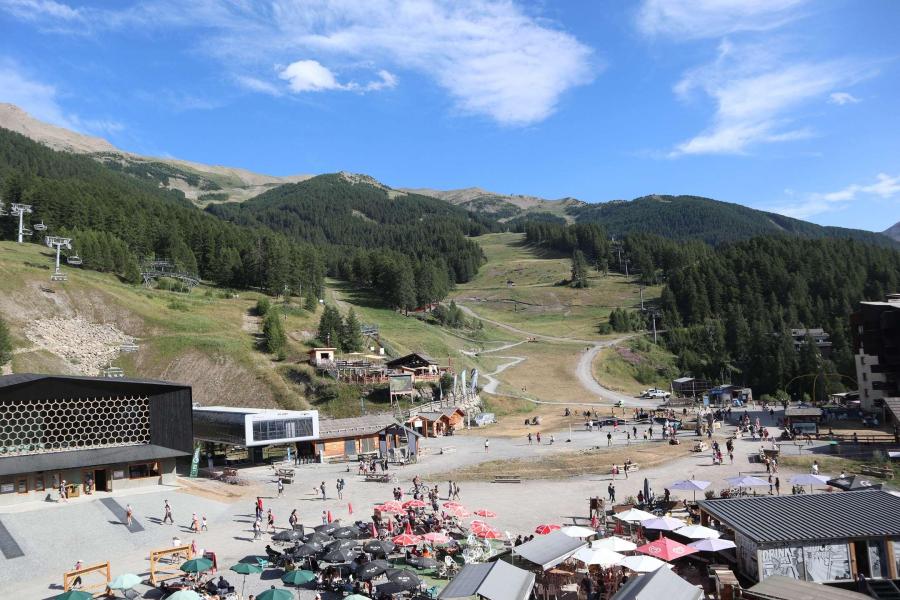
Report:
[[[629,233],[652,233],[678,240],[719,244],[782,233],[894,244],[887,236],[871,231],[823,227],[699,196],[644,196],[631,201],[573,206],[567,212],[579,223],[600,223],[616,237]]]

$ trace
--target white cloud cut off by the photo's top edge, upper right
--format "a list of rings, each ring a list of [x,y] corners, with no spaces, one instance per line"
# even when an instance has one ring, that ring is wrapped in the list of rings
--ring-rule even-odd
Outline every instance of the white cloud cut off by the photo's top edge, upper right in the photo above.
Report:
[[[644,0],[638,28],[646,35],[715,38],[767,31],[797,18],[806,0]]]

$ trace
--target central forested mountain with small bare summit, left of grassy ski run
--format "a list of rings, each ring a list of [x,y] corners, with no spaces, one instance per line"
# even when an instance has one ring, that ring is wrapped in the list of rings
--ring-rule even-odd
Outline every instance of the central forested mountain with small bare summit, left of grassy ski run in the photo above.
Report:
[[[440,300],[450,285],[471,279],[484,256],[467,236],[501,229],[487,216],[436,198],[342,173],[207,210],[310,242],[325,252],[331,275],[377,289],[406,309]]]

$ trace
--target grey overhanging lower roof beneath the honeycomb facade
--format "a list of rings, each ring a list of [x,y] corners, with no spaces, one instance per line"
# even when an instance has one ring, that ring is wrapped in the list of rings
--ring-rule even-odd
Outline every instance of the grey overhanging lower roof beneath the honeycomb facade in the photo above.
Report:
[[[188,456],[189,454],[189,452],[182,452],[173,448],[165,448],[153,444],[139,444],[115,448],[92,448],[90,450],[66,450],[64,452],[4,456],[0,458],[0,476],[80,469],[83,467],[142,460],[161,460],[176,456]]]

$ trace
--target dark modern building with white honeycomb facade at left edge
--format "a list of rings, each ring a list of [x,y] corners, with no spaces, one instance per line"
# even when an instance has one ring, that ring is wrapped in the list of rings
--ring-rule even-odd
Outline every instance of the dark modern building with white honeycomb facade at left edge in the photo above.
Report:
[[[0,377],[0,505],[171,484],[193,448],[191,388],[126,378]]]

